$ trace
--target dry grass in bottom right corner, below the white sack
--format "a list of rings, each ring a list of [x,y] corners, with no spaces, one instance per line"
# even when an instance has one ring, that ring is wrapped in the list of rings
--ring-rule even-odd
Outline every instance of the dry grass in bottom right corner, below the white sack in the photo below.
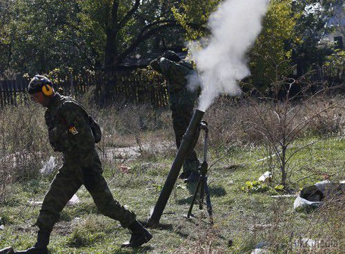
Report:
[[[263,233],[257,233],[268,243],[269,253],[343,253],[344,242],[344,194],[328,197],[321,208],[311,214],[284,214],[277,206],[271,218],[273,227]],[[291,223],[307,220],[308,225]],[[308,240],[308,244],[306,242]]]

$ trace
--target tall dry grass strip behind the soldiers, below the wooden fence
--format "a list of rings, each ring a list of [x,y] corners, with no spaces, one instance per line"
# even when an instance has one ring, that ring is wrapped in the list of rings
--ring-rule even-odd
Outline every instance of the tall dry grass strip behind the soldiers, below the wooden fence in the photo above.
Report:
[[[141,158],[153,160],[162,153],[166,156],[175,154],[170,110],[156,110],[148,105],[99,108],[94,106],[92,90],[77,99],[86,105],[103,129],[103,139],[97,146],[103,151],[100,152],[103,163],[110,164],[111,168],[118,168],[128,158],[115,162],[115,155],[106,156],[108,148],[133,146]],[[317,97],[305,104],[302,101],[291,103],[289,107],[298,110],[291,121],[302,121],[332,104],[344,107],[345,100],[335,96],[331,99]],[[260,121],[259,117],[264,118],[267,128],[278,133],[275,108],[275,104],[268,102],[219,98],[205,117],[210,126],[211,146],[222,150],[264,144],[264,136],[253,123]],[[8,184],[37,177],[42,162],[46,162],[50,155],[60,158],[48,143],[43,111],[41,106],[30,101],[25,106],[9,106],[0,111],[0,201],[5,199]],[[331,108],[314,117],[298,137],[344,134],[344,122],[342,110]]]

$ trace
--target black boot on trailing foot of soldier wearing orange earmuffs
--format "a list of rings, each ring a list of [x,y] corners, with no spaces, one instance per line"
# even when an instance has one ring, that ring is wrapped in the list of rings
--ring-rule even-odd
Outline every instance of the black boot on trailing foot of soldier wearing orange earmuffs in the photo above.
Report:
[[[152,238],[150,232],[148,232],[137,220],[128,226],[128,229],[132,235],[130,236],[129,242],[124,242],[122,247],[138,248],[141,245],[146,244],[146,242],[150,241]]]

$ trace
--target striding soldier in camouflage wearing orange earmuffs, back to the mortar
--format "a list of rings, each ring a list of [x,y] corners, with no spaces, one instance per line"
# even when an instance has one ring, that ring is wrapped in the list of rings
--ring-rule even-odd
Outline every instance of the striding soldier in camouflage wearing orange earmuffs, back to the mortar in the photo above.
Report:
[[[43,199],[36,222],[39,227],[37,243],[16,253],[49,253],[47,246],[52,228],[63,207],[82,184],[103,215],[118,220],[121,226],[130,230],[130,241],[123,246],[135,248],[148,242],[152,235],[137,222],[135,213],[112,197],[102,176],[101,162],[95,149],[100,131],[97,133],[92,117],[77,101],[55,92],[52,82],[44,76],[36,75],[30,81],[28,92],[34,101],[47,108],[45,118],[49,141],[54,150],[63,153],[63,166]]]

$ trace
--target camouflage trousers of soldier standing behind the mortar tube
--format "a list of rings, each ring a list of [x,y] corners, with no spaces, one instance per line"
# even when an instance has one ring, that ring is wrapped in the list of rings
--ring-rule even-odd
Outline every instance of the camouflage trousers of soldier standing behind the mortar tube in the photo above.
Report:
[[[188,128],[189,122],[193,117],[193,106],[184,106],[183,108],[172,109],[172,127],[174,128],[177,149],[181,145],[182,137]],[[190,150],[184,161],[184,173],[197,172],[199,167],[199,160],[194,148]]]

